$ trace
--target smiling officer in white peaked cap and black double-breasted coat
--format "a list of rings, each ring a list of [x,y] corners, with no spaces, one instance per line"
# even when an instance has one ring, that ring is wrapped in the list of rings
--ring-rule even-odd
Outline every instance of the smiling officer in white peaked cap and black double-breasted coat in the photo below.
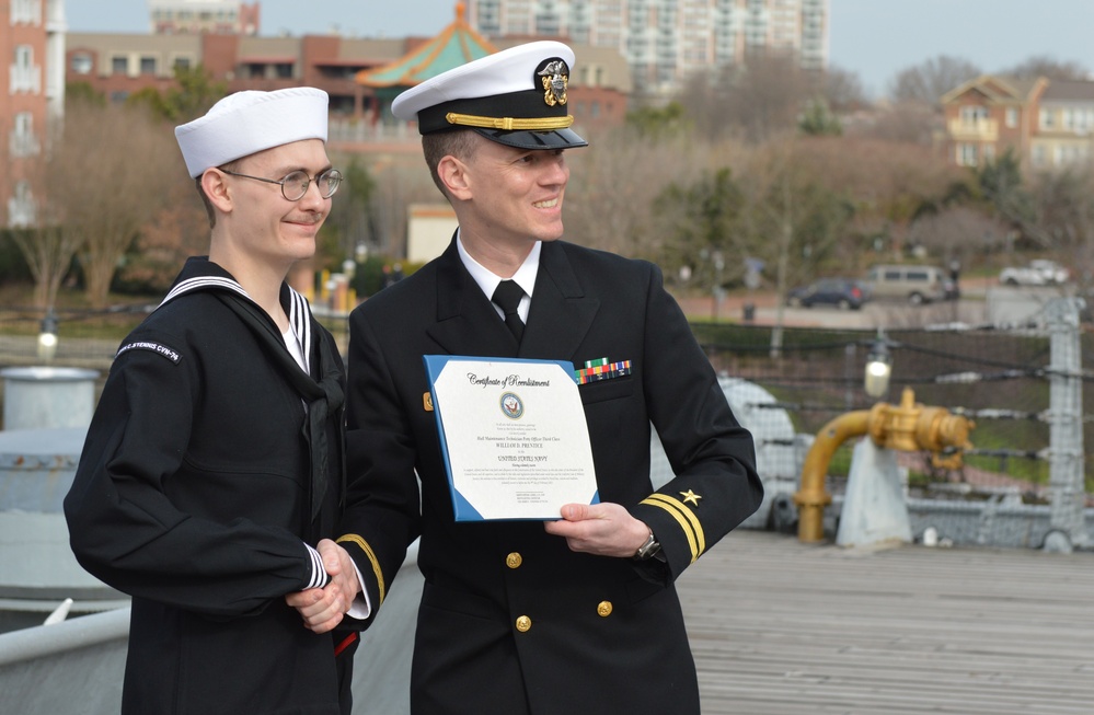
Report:
[[[566,154],[586,143],[569,113],[574,61],[562,43],[530,43],[392,106],[417,122],[459,220],[440,257],[349,319],[349,474],[373,495],[349,510],[378,557],[377,583],[366,574],[373,602],[421,534],[415,715],[698,715],[672,583],[762,496],[752,439],[660,270],[561,240]],[[573,364],[600,501],[558,504],[562,518],[545,524],[458,521],[463,497],[449,487],[423,355]],[[676,470],[656,489],[650,425]],[[480,428],[499,464],[525,443],[551,454],[550,436],[527,426]],[[485,478],[523,484],[518,472]],[[522,498],[540,498],[543,476]]]

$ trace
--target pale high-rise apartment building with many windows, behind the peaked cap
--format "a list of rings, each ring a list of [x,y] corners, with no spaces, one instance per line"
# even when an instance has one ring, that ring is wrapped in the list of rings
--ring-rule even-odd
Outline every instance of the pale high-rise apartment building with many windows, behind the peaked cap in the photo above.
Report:
[[[828,65],[828,0],[470,0],[469,20],[491,39],[617,48],[635,91],[653,95],[759,50],[793,54],[808,70]]]

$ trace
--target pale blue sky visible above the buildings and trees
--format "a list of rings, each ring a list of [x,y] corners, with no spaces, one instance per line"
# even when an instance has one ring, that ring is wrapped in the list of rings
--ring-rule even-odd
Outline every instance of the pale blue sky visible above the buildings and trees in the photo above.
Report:
[[[258,0],[262,34],[433,35],[456,0]],[[830,62],[872,95],[902,69],[940,55],[986,72],[1034,56],[1094,71],[1094,0],[829,0]],[[148,32],[147,0],[68,0],[70,32]],[[578,57],[580,61],[580,57]]]

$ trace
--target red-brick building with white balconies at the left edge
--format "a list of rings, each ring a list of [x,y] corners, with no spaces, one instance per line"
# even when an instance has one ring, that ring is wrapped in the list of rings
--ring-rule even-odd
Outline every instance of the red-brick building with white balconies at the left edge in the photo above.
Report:
[[[0,215],[34,226],[45,187],[41,164],[64,114],[65,2],[11,0],[0,7]]]

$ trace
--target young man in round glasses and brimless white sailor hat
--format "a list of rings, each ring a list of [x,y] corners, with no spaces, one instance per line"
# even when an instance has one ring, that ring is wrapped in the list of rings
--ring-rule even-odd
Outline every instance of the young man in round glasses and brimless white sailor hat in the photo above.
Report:
[[[285,281],[342,181],[326,131],[311,88],[175,131],[209,255],[123,341],[65,500],[80,563],[133,597],[123,713],[350,712],[345,371]]]

